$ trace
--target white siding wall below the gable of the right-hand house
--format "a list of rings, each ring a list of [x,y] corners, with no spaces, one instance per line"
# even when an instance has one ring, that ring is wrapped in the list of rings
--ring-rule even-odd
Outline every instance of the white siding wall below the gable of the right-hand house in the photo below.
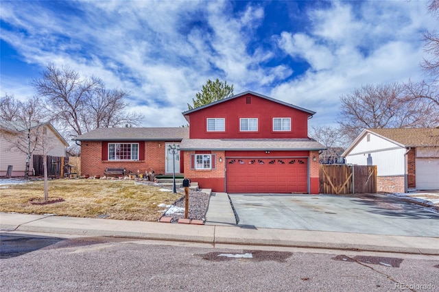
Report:
[[[394,144],[393,144],[394,145]],[[346,163],[353,165],[377,165],[378,176],[404,175],[405,148],[349,154]]]

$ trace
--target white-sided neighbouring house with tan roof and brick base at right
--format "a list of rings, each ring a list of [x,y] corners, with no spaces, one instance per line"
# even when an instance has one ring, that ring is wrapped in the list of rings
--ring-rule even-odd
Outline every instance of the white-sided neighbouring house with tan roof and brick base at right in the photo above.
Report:
[[[439,127],[366,129],[342,154],[352,165],[377,165],[377,189],[439,190]]]

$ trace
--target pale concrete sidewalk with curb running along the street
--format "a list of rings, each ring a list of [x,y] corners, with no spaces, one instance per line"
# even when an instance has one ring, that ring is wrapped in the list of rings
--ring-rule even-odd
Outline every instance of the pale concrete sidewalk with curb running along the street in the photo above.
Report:
[[[439,238],[389,236],[310,230],[246,229],[237,226],[89,219],[0,213],[3,232],[43,232],[82,236],[117,236],[196,243],[309,247],[439,255]]]

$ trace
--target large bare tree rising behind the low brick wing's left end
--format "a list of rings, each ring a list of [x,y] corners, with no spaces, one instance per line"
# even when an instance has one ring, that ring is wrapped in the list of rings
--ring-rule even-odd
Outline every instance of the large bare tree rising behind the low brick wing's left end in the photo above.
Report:
[[[81,78],[68,66],[48,64],[33,82],[36,93],[47,99],[47,109],[62,125],[64,136],[77,136],[97,127],[139,125],[142,114],[128,113],[124,90],[107,90],[97,77]]]

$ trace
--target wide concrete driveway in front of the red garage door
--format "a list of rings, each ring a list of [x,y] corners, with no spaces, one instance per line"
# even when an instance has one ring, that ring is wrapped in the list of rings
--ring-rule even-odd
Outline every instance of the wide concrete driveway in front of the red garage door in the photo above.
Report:
[[[439,237],[439,214],[377,194],[229,194],[238,226]]]

